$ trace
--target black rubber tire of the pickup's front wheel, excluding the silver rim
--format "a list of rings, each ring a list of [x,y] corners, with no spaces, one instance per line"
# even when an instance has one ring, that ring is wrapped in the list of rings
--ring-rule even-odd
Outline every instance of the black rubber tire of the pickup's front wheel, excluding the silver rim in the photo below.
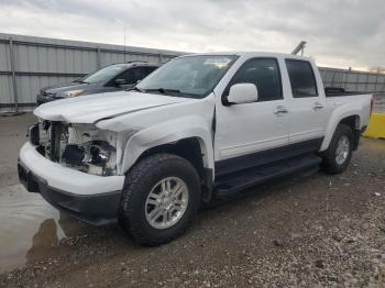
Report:
[[[145,214],[145,203],[153,187],[166,177],[178,177],[188,188],[188,204],[170,228],[155,229]],[[125,176],[119,223],[138,243],[156,246],[182,235],[193,222],[200,203],[200,180],[195,167],[170,154],[155,154],[140,160]]]

